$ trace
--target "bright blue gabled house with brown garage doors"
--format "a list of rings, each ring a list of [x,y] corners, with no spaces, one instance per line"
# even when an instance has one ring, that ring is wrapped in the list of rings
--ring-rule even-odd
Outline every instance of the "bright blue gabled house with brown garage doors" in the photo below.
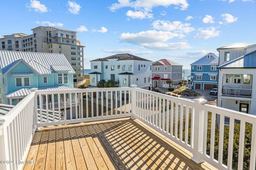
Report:
[[[218,56],[209,53],[190,65],[190,85],[192,89],[211,90],[218,87]]]

